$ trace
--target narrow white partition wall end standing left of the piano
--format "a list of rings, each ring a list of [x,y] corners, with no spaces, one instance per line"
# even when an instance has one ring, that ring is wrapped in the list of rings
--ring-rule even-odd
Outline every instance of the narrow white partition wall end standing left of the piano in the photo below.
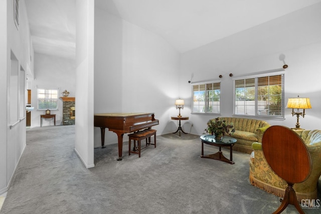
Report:
[[[77,0],[75,151],[94,166],[94,1]]]

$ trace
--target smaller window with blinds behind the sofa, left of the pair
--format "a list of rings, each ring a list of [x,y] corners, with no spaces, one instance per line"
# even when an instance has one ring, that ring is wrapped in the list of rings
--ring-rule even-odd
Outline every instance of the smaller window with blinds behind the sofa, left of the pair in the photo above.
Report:
[[[192,85],[192,113],[220,113],[221,83]]]

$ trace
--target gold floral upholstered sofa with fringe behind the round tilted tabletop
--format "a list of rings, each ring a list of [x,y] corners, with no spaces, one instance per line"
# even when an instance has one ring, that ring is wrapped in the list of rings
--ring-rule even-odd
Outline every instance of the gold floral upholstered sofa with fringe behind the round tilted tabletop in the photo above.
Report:
[[[295,183],[293,189],[298,201],[317,198],[317,182],[321,175],[321,130],[295,130],[306,144],[312,161],[312,171],[308,178]],[[284,197],[287,183],[269,167],[262,152],[261,143],[252,144],[254,156],[250,157],[250,183],[279,197]]]

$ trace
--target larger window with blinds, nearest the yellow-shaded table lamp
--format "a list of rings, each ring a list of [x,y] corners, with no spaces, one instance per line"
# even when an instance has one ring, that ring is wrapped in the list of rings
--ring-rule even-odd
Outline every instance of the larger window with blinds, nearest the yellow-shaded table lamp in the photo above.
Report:
[[[235,78],[234,114],[284,118],[284,72]]]

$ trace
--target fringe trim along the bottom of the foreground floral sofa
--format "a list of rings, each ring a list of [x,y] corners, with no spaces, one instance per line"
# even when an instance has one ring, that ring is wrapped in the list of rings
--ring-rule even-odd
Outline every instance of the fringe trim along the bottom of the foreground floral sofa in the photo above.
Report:
[[[272,193],[278,197],[284,197],[285,189],[273,186],[271,184],[262,182],[250,174],[250,183],[253,186],[256,186],[260,189],[263,189],[266,192]],[[316,199],[317,198],[317,188],[313,192],[303,193],[303,192],[295,192],[297,201],[300,203],[302,199]]]

